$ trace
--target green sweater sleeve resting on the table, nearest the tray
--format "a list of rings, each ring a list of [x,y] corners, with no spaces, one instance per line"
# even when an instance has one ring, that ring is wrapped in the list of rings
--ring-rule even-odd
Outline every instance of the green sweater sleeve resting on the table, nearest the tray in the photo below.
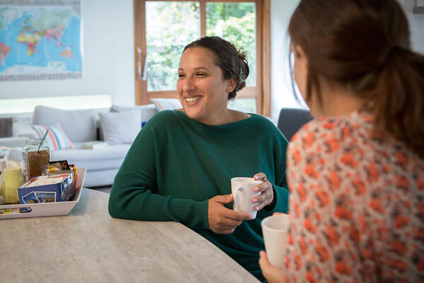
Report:
[[[208,200],[186,200],[157,193],[155,133],[159,127],[154,124],[153,119],[143,127],[114,178],[110,215],[144,221],[177,221],[192,229],[208,229]]]

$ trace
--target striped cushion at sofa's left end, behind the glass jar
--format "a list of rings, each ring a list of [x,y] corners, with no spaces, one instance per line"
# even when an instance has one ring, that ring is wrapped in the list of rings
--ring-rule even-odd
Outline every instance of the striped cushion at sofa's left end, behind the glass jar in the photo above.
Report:
[[[46,141],[50,150],[71,149],[73,147],[71,140],[68,136],[66,136],[59,123],[49,126],[33,125],[33,128],[35,129],[35,132],[37,132],[39,139],[42,139],[46,130],[49,129]]]

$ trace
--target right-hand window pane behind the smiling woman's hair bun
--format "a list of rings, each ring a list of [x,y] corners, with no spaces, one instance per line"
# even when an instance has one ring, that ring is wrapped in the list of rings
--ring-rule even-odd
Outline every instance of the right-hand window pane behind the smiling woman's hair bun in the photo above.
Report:
[[[256,86],[256,7],[253,2],[206,4],[206,35],[225,38],[247,52],[247,86]]]

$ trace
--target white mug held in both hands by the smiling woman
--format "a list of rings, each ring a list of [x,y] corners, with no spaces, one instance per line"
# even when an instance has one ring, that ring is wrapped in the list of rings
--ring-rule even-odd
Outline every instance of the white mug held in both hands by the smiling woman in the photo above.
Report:
[[[253,187],[264,183],[261,180],[254,180],[254,178],[235,177],[231,178],[231,192],[234,197],[234,210],[236,212],[247,212],[256,218],[257,211],[254,210],[252,197],[261,195],[261,192],[255,192]]]

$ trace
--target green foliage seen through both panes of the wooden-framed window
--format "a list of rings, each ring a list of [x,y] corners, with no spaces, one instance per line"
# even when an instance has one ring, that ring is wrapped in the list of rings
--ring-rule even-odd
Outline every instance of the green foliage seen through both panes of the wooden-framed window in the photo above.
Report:
[[[247,85],[255,85],[254,3],[208,3],[206,35],[218,35],[248,55]],[[200,6],[196,1],[147,1],[146,45],[148,91],[175,90],[179,57],[185,45],[200,37]]]

